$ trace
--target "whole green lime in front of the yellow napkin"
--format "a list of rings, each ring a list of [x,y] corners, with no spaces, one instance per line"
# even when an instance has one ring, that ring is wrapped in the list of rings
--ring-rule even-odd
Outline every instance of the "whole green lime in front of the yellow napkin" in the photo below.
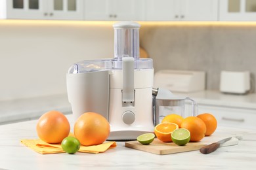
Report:
[[[75,137],[66,137],[62,140],[61,147],[68,154],[75,154],[80,148],[80,142]]]

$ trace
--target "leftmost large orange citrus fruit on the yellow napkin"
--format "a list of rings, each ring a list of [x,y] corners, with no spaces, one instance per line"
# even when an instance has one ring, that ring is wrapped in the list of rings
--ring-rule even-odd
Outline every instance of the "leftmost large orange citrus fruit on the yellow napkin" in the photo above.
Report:
[[[70,133],[70,123],[62,112],[51,110],[39,118],[36,130],[42,141],[61,143]]]

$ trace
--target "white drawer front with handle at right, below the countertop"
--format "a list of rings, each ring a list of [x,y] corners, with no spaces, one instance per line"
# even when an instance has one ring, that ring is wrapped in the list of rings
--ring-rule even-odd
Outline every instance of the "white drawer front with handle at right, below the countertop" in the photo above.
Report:
[[[215,116],[219,126],[256,129],[256,109],[199,105],[198,113],[209,112]]]

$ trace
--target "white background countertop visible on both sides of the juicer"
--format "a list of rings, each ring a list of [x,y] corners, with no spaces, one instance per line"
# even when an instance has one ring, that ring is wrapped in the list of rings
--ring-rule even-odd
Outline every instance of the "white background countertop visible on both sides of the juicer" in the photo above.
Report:
[[[192,93],[176,93],[194,99],[198,105],[214,105],[255,110],[256,93],[247,95],[224,94],[218,91],[205,90]],[[0,101],[0,124],[20,122],[39,118],[49,110],[58,110],[64,114],[72,113],[71,105],[66,94]]]

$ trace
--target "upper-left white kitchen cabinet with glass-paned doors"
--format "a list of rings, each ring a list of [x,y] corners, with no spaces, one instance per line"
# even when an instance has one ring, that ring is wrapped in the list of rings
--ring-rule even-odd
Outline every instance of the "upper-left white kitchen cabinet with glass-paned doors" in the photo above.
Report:
[[[83,0],[1,0],[0,18],[83,20]]]

